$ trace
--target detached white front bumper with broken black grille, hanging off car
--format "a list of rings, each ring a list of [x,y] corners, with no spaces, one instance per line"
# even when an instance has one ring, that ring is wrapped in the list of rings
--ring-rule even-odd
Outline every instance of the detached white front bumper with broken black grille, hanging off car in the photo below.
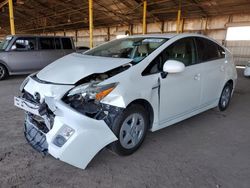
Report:
[[[36,91],[37,92],[37,91]],[[33,93],[33,92],[30,92]],[[91,159],[106,145],[117,140],[103,120],[95,120],[84,116],[69,107],[61,100],[45,97],[45,103],[55,115],[51,129],[41,131],[32,119],[39,115],[39,104],[15,97],[15,105],[26,111],[25,136],[28,142],[38,151],[48,152],[55,158],[78,168],[85,169]],[[39,118],[46,121],[47,116]],[[60,137],[62,130],[70,129],[72,135],[62,145],[58,146],[55,139]]]

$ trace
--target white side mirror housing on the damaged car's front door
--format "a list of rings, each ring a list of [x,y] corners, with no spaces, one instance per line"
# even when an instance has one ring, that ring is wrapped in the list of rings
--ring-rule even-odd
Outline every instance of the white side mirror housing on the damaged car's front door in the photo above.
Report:
[[[163,65],[163,72],[166,73],[179,73],[183,72],[185,69],[185,65],[176,60],[167,60]]]

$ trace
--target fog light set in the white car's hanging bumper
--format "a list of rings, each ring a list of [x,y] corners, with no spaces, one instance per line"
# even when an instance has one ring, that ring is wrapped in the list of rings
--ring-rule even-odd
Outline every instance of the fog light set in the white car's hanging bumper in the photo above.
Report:
[[[64,126],[55,137],[53,143],[58,146],[62,147],[68,139],[75,133],[75,130],[69,126]]]

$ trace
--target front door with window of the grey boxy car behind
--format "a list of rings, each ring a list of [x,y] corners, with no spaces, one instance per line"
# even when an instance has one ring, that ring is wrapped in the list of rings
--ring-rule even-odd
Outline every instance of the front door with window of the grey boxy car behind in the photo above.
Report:
[[[42,61],[36,37],[16,38],[7,56],[8,66],[17,73],[38,70]]]

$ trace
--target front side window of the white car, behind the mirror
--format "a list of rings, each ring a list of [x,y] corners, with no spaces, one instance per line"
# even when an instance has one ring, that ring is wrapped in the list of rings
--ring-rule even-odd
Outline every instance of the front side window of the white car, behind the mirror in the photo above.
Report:
[[[168,46],[148,65],[142,75],[162,72],[163,65],[167,60],[180,61],[185,66],[194,65],[196,63],[196,50],[193,38],[183,38]]]

